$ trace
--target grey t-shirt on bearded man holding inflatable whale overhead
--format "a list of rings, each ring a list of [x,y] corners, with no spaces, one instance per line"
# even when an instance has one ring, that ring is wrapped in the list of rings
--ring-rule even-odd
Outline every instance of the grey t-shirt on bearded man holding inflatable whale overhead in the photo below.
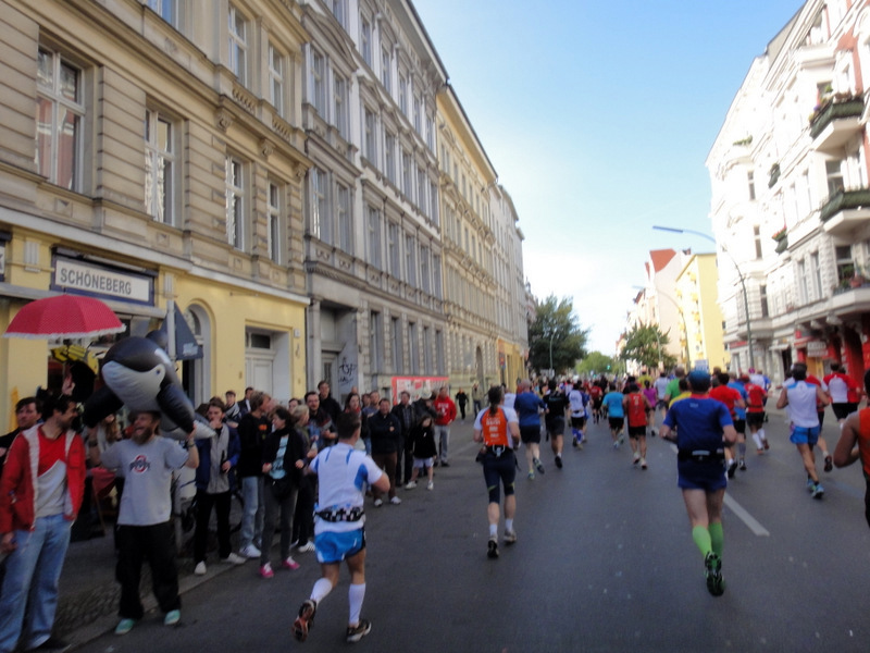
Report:
[[[187,463],[187,451],[175,440],[154,436],[145,444],[122,440],[105,449],[102,466],[124,479],[117,522],[154,526],[172,513],[172,472]]]

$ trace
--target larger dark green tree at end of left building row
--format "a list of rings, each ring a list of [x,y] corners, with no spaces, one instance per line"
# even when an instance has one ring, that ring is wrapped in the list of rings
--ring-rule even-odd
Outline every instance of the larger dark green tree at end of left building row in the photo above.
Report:
[[[550,295],[537,305],[535,321],[529,329],[530,365],[538,371],[550,369],[551,346],[556,373],[573,369],[586,354],[588,333],[588,329],[580,326],[571,299],[557,300]]]

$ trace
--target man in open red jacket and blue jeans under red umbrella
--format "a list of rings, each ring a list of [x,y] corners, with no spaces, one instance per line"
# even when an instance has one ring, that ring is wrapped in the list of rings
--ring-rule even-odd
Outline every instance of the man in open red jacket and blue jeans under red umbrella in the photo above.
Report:
[[[85,446],[71,428],[72,397],[48,399],[45,423],[18,434],[0,480],[0,552],[8,553],[0,592],[0,652],[59,650],[51,636],[58,582],[70,531],[85,494]],[[27,621],[25,624],[25,607]]]

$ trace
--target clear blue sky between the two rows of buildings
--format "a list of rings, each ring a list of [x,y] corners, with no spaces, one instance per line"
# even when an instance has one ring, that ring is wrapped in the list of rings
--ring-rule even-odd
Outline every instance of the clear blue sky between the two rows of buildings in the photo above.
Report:
[[[519,214],[532,293],[587,347],[625,329],[651,249],[711,251],[705,160],[801,0],[412,0]]]

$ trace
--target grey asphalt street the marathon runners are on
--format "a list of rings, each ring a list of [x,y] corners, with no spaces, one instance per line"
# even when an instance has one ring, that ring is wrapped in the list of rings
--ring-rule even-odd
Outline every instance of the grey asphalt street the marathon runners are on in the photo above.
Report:
[[[828,415],[830,420],[832,416]],[[470,420],[469,420],[470,422]],[[706,589],[676,488],[672,445],[649,442],[649,469],[614,451],[605,424],[564,469],[518,473],[519,542],[487,559],[486,494],[470,423],[452,431],[451,465],[435,490],[400,490],[400,506],[368,510],[362,651],[867,651],[870,530],[858,465],[820,472],[810,498],[781,414],[771,449],[748,444],[749,469],[729,486],[721,597]],[[836,427],[825,424],[830,447]],[[548,444],[542,443],[548,452]],[[821,469],[821,465],[820,465]],[[277,551],[274,551],[277,559]],[[298,571],[257,576],[249,562],[183,596],[182,624],[153,613],[126,637],[79,649],[335,651],[344,648],[348,577],[320,606],[309,640],[290,625],[319,578],[314,554]]]

